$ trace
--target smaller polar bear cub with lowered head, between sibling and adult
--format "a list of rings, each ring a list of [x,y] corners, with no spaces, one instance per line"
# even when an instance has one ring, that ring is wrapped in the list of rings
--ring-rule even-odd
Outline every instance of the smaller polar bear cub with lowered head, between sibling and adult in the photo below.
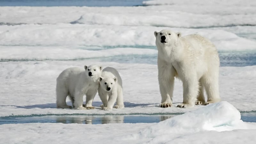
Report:
[[[98,89],[101,105],[104,110],[124,108],[122,79],[115,68],[107,67],[102,70]]]

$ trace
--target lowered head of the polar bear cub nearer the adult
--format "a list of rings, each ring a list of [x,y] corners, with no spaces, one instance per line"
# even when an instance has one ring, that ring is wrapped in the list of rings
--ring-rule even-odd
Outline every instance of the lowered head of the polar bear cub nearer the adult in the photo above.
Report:
[[[110,92],[117,83],[117,78],[113,74],[106,74],[106,72],[103,72],[99,79],[100,87],[108,92]]]

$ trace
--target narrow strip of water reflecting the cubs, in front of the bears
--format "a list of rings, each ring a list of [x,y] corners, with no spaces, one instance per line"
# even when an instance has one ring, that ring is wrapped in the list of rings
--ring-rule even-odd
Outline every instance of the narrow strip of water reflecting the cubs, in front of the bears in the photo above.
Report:
[[[177,115],[45,115],[0,117],[0,124],[63,123],[63,124],[110,124],[110,123],[158,123]],[[256,113],[241,113],[244,122],[256,122]]]

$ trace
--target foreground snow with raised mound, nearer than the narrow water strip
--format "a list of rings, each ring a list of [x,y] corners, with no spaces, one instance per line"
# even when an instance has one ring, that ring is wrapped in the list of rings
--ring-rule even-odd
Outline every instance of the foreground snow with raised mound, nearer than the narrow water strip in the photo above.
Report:
[[[2,124],[2,143],[253,143],[256,124],[221,101],[153,124]],[[20,137],[22,133],[22,137]],[[234,139],[236,141],[234,141]]]

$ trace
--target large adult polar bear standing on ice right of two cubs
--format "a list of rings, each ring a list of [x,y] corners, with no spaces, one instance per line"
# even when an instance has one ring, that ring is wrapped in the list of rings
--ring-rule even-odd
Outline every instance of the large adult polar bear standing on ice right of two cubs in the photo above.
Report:
[[[162,96],[160,107],[172,106],[174,77],[183,82],[183,102],[177,107],[188,108],[220,101],[220,60],[214,44],[197,34],[181,37],[180,33],[170,30],[155,31],[154,34]],[[204,100],[204,88],[207,102]]]

